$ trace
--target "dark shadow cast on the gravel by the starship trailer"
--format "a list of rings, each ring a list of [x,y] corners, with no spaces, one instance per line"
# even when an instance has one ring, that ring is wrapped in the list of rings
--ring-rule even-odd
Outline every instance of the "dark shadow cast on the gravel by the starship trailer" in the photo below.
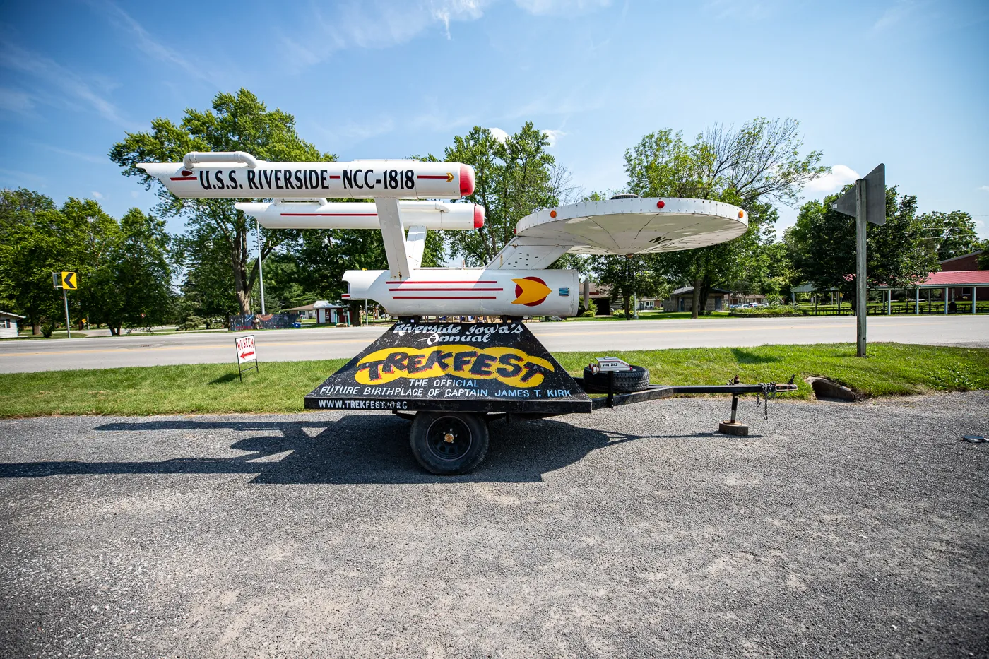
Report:
[[[711,432],[637,435],[602,432],[558,421],[491,424],[491,448],[481,467],[464,476],[433,476],[408,448],[408,422],[394,416],[352,416],[337,422],[165,420],[103,424],[96,430],[153,432],[153,445],[167,446],[169,432],[245,432],[230,448],[249,451],[229,457],[84,462],[74,460],[0,463],[0,478],[87,474],[256,474],[258,484],[368,484],[494,482],[531,483],[566,467],[590,451],[636,439],[720,437]],[[287,453],[282,456],[281,454]]]

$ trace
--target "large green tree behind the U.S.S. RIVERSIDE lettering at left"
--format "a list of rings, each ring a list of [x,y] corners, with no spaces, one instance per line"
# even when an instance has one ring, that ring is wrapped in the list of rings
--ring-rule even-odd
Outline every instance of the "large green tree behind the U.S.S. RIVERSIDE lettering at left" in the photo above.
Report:
[[[129,133],[114,144],[110,158],[124,167],[124,174],[136,176],[147,189],[156,186],[163,213],[180,215],[190,228],[210,228],[225,240],[226,259],[233,277],[233,291],[241,314],[250,310],[250,291],[258,265],[252,258],[249,234],[254,223],[235,208],[237,200],[187,199],[172,196],[157,179],[137,164],[148,161],[179,162],[189,151],[242,150],[264,160],[334,160],[331,153],[320,153],[296,133],[295,118],[281,110],[269,111],[264,103],[240,89],[235,95],[217,94],[212,110],[187,109],[181,123],[158,118],[151,130]],[[285,238],[283,232],[261,232],[261,258],[265,258]]]

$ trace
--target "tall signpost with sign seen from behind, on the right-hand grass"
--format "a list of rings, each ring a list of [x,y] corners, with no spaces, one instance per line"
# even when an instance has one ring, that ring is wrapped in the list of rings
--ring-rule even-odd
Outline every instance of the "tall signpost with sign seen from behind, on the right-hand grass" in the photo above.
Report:
[[[855,340],[856,354],[865,356],[865,297],[868,293],[865,264],[867,262],[865,225],[886,224],[886,165],[879,163],[875,169],[855,181],[854,188],[838,198],[832,208],[855,218]]]

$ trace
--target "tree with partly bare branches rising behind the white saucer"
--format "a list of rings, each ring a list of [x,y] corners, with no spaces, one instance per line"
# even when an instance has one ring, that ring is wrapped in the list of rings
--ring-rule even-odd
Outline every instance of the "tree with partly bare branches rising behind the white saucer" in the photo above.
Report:
[[[625,151],[628,190],[643,197],[713,199],[745,209],[749,229],[721,244],[656,257],[657,267],[693,285],[691,316],[717,283],[737,278],[744,259],[770,241],[773,202],[792,204],[808,181],[827,173],[821,152],[801,156],[799,122],[763,117],[737,131],[715,125],[693,143],[670,130],[645,136]]]

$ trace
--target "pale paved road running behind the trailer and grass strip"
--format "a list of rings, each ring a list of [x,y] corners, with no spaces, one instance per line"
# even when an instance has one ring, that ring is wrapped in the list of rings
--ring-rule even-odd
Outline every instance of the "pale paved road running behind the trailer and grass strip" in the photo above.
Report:
[[[854,318],[701,319],[528,326],[550,350],[854,342]],[[384,327],[256,332],[262,361],[352,357]],[[233,332],[0,341],[0,373],[233,360]],[[989,316],[869,318],[869,340],[989,346]]]

